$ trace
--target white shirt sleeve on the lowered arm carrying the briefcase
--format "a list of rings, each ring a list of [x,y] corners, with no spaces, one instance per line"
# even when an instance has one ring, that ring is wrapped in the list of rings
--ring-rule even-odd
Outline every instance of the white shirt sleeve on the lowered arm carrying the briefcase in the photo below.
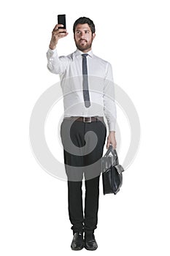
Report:
[[[112,66],[107,63],[106,77],[104,78],[104,115],[107,118],[109,132],[115,131],[117,110],[115,105],[115,89],[112,76]]]

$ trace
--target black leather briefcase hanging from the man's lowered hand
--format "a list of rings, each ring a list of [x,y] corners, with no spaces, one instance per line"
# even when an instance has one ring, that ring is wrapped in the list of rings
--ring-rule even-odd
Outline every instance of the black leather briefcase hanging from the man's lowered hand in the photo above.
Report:
[[[102,181],[104,195],[120,191],[123,183],[123,167],[119,165],[117,151],[109,146],[107,153],[101,159]]]

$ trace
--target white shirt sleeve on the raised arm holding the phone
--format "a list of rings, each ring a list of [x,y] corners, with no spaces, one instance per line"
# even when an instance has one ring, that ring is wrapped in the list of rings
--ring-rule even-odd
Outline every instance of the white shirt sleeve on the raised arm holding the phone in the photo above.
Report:
[[[47,50],[47,69],[50,72],[58,75],[62,75],[67,67],[68,61],[66,56],[58,57],[57,50]]]

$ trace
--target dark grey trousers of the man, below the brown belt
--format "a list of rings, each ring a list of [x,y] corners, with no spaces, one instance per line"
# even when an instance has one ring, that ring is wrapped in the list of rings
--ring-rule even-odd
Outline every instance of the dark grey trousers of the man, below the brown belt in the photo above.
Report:
[[[97,227],[101,157],[106,135],[107,129],[102,121],[84,123],[63,119],[61,124],[64,164],[68,177],[69,219],[74,233],[83,230],[90,233]],[[93,150],[89,151],[89,148]],[[85,177],[84,213],[83,175]]]

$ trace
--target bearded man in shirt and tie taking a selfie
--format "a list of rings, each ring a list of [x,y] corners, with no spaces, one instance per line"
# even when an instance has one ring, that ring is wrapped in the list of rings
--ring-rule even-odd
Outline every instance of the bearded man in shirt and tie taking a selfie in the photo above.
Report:
[[[64,164],[68,177],[69,219],[72,223],[73,250],[95,250],[94,230],[98,221],[99,177],[101,157],[109,127],[107,148],[116,148],[114,86],[112,67],[91,50],[95,25],[90,18],[75,21],[74,42],[77,50],[58,57],[58,40],[67,36],[63,25],[52,32],[47,67],[59,74],[63,90],[64,117],[61,124]],[[85,176],[85,209],[82,204],[82,178]],[[85,237],[83,239],[83,233]]]

